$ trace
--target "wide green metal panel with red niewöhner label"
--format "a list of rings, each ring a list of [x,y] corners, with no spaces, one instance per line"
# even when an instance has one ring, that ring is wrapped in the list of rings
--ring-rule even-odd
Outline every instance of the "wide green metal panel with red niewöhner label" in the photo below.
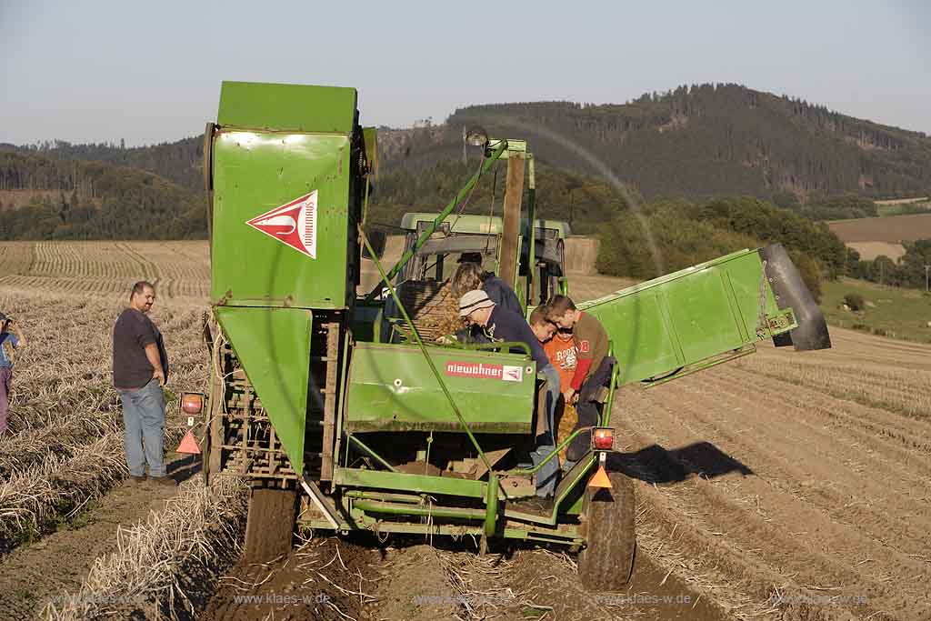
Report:
[[[430,358],[475,432],[529,433],[536,368],[517,354],[430,347]],[[357,343],[349,371],[350,431],[461,429],[417,347]]]

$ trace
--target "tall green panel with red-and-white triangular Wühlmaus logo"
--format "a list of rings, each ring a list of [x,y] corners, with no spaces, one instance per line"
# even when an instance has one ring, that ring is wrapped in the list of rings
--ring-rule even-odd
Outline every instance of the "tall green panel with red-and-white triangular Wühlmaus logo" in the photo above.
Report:
[[[347,287],[349,138],[315,134],[218,131],[213,150],[213,304],[339,308]],[[301,196],[313,226],[310,248],[286,239],[298,226],[256,218]],[[295,214],[292,214],[295,215]],[[311,223],[313,219],[313,223]],[[263,223],[268,223],[264,226]]]

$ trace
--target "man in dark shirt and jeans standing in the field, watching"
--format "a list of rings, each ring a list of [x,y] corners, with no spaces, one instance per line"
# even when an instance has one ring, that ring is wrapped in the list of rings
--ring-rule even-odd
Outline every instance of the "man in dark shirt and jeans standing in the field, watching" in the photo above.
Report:
[[[155,304],[155,286],[137,282],[129,294],[129,307],[114,325],[114,386],[123,403],[126,427],[124,448],[130,477],[149,476],[163,485],[176,485],[166,475],[163,444],[165,439],[165,394],[169,359],[162,334],[147,317]],[[143,452],[144,446],[144,452]]]

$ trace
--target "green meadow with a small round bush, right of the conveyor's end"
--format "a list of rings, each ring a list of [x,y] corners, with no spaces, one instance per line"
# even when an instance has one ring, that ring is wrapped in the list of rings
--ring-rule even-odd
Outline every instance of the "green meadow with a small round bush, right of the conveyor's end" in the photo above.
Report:
[[[841,278],[821,285],[821,309],[828,323],[906,341],[931,343],[931,297],[924,291],[884,287],[865,280]],[[859,293],[868,307],[862,313],[843,310],[843,296]],[[870,306],[869,304],[873,304]]]

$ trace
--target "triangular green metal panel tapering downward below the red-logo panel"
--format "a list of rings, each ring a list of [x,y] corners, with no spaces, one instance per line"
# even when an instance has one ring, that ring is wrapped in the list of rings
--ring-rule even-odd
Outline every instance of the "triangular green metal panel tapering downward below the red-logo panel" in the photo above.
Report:
[[[294,471],[304,470],[304,420],[311,312],[299,308],[215,309]]]

